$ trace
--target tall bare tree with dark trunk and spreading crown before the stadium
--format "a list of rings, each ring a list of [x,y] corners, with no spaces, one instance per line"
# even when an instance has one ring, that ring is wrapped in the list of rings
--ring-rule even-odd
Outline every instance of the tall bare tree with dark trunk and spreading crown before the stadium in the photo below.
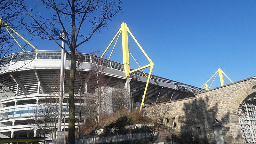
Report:
[[[65,52],[71,59],[70,81],[69,81],[69,118],[68,118],[68,143],[75,143],[75,72],[76,72],[76,50],[78,46],[87,42],[95,32],[100,32],[101,27],[107,27],[111,20],[120,10],[121,0],[116,5],[114,0],[68,0],[56,2],[55,0],[40,0],[47,10],[34,13],[35,8],[29,7],[24,0],[17,3],[17,10],[21,10],[25,15],[21,18],[21,23],[33,36],[41,39],[53,40],[61,47],[58,40],[60,30],[63,29],[70,52]],[[42,10],[41,10],[42,11]],[[49,14],[45,14],[49,12]],[[50,15],[45,17],[45,15]],[[25,22],[24,18],[30,17],[32,22]],[[88,34],[81,34],[82,28],[87,29]]]

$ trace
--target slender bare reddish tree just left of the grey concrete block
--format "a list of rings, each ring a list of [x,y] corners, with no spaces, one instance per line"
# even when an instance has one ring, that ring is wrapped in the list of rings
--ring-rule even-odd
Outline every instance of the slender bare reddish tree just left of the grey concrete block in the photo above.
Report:
[[[95,91],[85,93],[86,107],[89,117],[94,127],[98,127],[100,116],[108,111],[109,104],[109,88],[106,84],[104,73],[105,67],[109,67],[109,62],[97,57],[100,51],[91,52],[92,54],[92,81],[88,87],[92,87]]]

